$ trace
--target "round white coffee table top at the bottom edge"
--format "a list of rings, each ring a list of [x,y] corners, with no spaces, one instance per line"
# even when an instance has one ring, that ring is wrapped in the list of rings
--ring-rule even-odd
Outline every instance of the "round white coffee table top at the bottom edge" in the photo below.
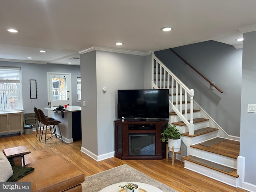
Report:
[[[128,181],[129,183],[135,183],[139,186],[140,189],[143,189],[144,192],[163,192],[162,190],[156,188],[155,186],[152,186],[150,184],[146,184],[146,183],[140,183],[140,182],[135,182],[135,181]],[[119,185],[125,185],[127,182],[122,182],[122,183],[116,183],[116,184],[112,184],[110,186],[107,186],[105,188],[103,188],[102,190],[100,190],[99,192],[119,192],[119,191],[123,191]]]

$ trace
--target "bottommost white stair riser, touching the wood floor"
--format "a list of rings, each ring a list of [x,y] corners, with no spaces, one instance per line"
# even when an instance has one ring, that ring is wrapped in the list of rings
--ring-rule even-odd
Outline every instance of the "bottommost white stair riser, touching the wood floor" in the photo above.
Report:
[[[195,164],[188,160],[184,160],[184,161],[185,161],[184,168],[186,168],[188,170],[192,170],[192,171],[202,174],[204,176],[213,178],[222,183],[226,183],[228,185],[238,187],[238,178],[236,178],[236,177],[230,176],[228,174],[224,174],[222,172],[207,168],[207,167],[199,165],[199,164]]]

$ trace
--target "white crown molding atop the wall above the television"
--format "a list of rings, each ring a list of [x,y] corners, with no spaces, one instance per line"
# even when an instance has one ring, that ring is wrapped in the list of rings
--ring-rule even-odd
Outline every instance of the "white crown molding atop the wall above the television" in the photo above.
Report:
[[[118,49],[118,48],[109,48],[109,47],[102,47],[102,46],[93,46],[91,48],[79,51],[80,54],[88,53],[94,50],[98,51],[107,51],[107,52],[115,52],[115,53],[123,53],[123,54],[130,54],[130,55],[139,55],[139,56],[147,56],[150,55],[152,52],[140,52],[140,51],[131,51],[125,49]]]

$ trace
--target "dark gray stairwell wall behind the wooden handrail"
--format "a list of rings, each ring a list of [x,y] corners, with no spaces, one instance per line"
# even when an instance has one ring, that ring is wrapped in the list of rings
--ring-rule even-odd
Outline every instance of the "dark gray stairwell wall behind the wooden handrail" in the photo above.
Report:
[[[211,82],[215,82],[224,93],[211,90],[206,80],[169,49],[155,54],[188,88],[195,90],[194,100],[229,135],[240,136],[242,49],[207,41],[173,50]]]

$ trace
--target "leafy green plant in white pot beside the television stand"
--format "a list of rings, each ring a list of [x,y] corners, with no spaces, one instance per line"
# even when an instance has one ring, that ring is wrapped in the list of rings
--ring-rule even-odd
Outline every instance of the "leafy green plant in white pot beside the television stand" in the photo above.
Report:
[[[168,148],[170,151],[172,151],[172,146],[174,146],[174,152],[180,151],[180,145],[181,145],[181,133],[176,128],[176,126],[172,126],[168,124],[168,127],[164,130],[164,132],[161,133],[162,142],[168,142]]]

